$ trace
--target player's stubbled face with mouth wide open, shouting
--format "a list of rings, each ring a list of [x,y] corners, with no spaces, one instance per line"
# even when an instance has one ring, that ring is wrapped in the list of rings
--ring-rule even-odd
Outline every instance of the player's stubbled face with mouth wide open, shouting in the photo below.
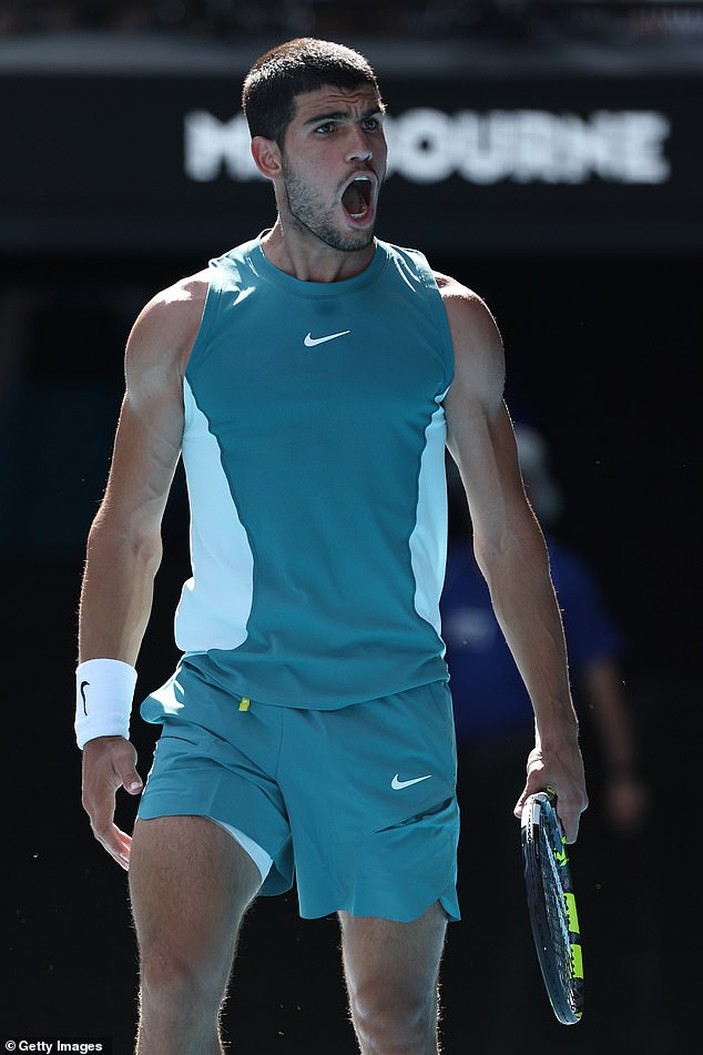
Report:
[[[376,92],[364,85],[298,95],[281,153],[289,219],[340,252],[370,245],[387,154]]]

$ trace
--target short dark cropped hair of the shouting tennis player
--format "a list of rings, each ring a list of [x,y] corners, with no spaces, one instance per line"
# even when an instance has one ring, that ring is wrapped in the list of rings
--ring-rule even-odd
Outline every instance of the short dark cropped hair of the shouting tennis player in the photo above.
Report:
[[[358,51],[314,37],[298,37],[272,48],[244,79],[242,106],[252,138],[265,135],[283,145],[296,95],[327,85],[352,91],[360,84],[374,89],[383,109],[376,74]]]

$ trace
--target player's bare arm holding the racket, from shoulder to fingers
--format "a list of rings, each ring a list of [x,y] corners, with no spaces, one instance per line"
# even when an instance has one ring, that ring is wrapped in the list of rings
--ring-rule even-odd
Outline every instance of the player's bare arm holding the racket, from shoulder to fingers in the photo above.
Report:
[[[553,787],[573,842],[588,802],[578,721],[547,547],[524,495],[503,402],[502,344],[479,297],[442,276],[438,284],[455,348],[455,381],[445,399],[447,444],[463,481],[476,559],[536,717],[537,744],[516,814],[531,791]]]

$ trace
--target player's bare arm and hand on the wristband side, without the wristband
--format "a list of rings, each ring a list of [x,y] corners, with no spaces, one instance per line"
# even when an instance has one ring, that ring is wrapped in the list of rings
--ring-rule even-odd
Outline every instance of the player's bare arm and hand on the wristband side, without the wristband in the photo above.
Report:
[[[205,275],[165,291],[137,318],[125,352],[125,394],[105,495],[88,538],[79,662],[134,666],[161,561],[161,521],[183,434],[183,373],[202,315]],[[95,838],[128,866],[130,838],[113,822],[115,792],[142,788],[136,753],[121,737],[83,750],[83,807]]]

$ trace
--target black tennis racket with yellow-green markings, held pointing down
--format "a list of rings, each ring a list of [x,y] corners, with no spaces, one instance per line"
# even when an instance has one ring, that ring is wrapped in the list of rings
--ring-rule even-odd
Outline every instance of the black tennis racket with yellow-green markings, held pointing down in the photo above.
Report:
[[[567,842],[551,789],[522,810],[522,865],[537,957],[554,1015],[563,1025],[583,1013],[583,960]]]

